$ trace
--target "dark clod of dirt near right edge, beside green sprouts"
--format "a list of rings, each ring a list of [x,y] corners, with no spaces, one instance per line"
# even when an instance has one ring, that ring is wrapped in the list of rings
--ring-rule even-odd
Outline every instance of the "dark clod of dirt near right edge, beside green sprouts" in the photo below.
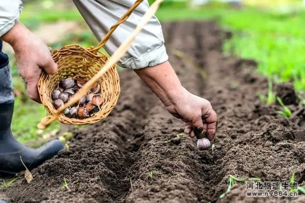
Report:
[[[284,105],[298,105],[299,103],[299,98],[295,93],[292,83],[282,83],[276,85],[276,96],[282,99]]]

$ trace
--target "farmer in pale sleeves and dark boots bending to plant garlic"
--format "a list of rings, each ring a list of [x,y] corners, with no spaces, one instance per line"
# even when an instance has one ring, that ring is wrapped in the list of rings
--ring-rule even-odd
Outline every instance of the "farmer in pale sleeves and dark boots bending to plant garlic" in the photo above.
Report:
[[[101,40],[134,2],[135,0],[74,0],[98,40]],[[105,45],[109,54],[130,36],[148,8],[148,2],[143,1],[127,21],[112,33]],[[41,69],[49,74],[57,72],[57,64],[48,47],[18,21],[21,10],[22,3],[19,0],[0,0],[0,172],[12,174],[24,170],[20,156],[31,170],[64,148],[63,143],[58,140],[39,149],[27,148],[16,141],[11,133],[14,95],[9,58],[2,53],[2,41],[14,49],[18,73],[25,82],[28,96],[38,103],[41,103],[37,90]],[[168,61],[162,27],[156,17],[150,19],[118,64],[134,70],[160,98],[166,110],[185,122],[185,133],[194,137],[193,127],[203,127],[208,139],[214,139],[216,113],[208,100],[192,94],[180,84]]]

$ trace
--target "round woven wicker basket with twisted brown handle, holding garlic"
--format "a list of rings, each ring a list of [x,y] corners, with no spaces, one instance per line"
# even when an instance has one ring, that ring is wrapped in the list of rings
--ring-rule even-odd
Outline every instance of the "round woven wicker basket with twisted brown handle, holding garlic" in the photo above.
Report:
[[[91,80],[100,70],[103,69],[103,66],[108,60],[108,56],[100,52],[99,49],[104,46],[116,27],[120,23],[124,22],[142,1],[143,0],[138,0],[134,3],[134,5],[126,12],[126,14],[111,27],[107,35],[105,35],[105,37],[101,40],[96,48],[84,48],[80,45],[68,45],[55,50],[52,53],[54,61],[58,64],[58,72],[54,75],[49,75],[43,72],[38,82],[40,99],[49,115],[57,115],[59,122],[74,125],[96,123],[109,115],[111,110],[116,105],[120,94],[119,76],[115,64],[112,65],[102,75],[102,77],[94,81],[101,85],[101,97],[103,98],[103,105],[98,112],[94,113],[90,117],[84,119],[66,117],[62,113],[63,110],[56,110],[53,107],[51,94],[52,91],[57,87],[58,82],[67,77],[81,77],[89,82],[92,82]],[[88,90],[88,88],[86,89]],[[87,91],[84,90],[85,89],[81,88],[79,90],[81,91],[80,94],[85,95]],[[75,97],[80,98],[80,96],[76,96],[76,94]],[[73,104],[74,103],[75,102],[73,102]],[[52,116],[47,116],[44,118],[42,123],[46,123],[47,120],[51,117]]]

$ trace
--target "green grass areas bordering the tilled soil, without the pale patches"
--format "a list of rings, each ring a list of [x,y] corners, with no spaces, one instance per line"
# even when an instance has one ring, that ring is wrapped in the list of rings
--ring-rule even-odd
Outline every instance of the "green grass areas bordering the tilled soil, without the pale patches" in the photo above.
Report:
[[[64,1],[59,2],[36,1],[33,4],[26,4],[20,20],[32,30],[37,29],[42,23],[59,20],[73,20],[84,24],[75,7],[64,9],[60,7]],[[275,82],[293,80],[297,91],[305,90],[305,72],[303,71],[305,69],[305,29],[302,29],[305,12],[300,8],[294,12],[287,10],[277,12],[250,7],[236,10],[224,4],[210,4],[190,10],[179,3],[171,6],[163,4],[156,15],[162,22],[217,20],[222,28],[234,33],[233,38],[224,44],[225,54],[255,59],[259,62],[258,73],[268,76]],[[56,49],[75,43],[88,47],[96,46],[98,42],[92,32],[85,28],[82,32],[67,33],[63,39],[58,39],[58,42],[48,46]],[[13,60],[13,57],[11,58]],[[12,72],[14,87],[26,94],[15,65],[12,67]],[[305,104],[305,101],[303,102]],[[27,98],[16,97],[13,132],[23,143],[39,138],[36,126],[44,116],[45,110],[42,105]],[[59,123],[54,122],[47,131],[59,127]]]

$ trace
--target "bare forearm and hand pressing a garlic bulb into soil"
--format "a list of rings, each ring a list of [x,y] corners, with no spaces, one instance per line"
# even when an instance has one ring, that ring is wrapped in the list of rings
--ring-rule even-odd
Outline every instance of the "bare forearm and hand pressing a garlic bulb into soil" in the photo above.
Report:
[[[135,72],[160,98],[168,112],[185,122],[185,133],[195,137],[193,128],[197,127],[204,129],[210,141],[215,138],[217,115],[209,101],[182,87],[168,61]]]

